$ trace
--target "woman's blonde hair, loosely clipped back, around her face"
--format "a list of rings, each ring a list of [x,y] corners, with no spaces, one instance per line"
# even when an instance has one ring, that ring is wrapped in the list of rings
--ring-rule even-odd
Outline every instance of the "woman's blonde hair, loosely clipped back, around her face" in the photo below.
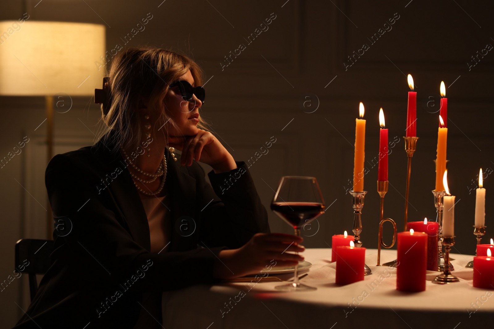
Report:
[[[135,110],[143,98],[148,101],[148,108],[160,110],[152,133],[157,133],[168,120],[178,128],[166,114],[163,100],[169,85],[188,71],[192,73],[195,85],[201,86],[204,71],[186,55],[155,47],[131,47],[117,54],[108,74],[109,104],[106,114],[102,111],[101,119],[105,126],[100,140],[105,144],[114,143],[116,147],[135,150],[143,136],[142,122]],[[207,130],[206,125],[208,123],[200,116],[197,126]],[[110,140],[112,130],[116,134]],[[164,128],[161,130],[167,135]]]

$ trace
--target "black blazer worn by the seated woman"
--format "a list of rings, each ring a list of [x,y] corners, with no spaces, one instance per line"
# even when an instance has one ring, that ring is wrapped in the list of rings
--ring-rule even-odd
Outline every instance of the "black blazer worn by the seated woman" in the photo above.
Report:
[[[171,243],[168,252],[151,253],[144,207],[113,149],[99,141],[49,162],[45,184],[56,226],[51,266],[14,328],[131,329],[144,292],[214,283],[221,250],[269,232],[244,161],[230,172],[209,172],[209,184],[199,164],[180,166],[166,150]]]

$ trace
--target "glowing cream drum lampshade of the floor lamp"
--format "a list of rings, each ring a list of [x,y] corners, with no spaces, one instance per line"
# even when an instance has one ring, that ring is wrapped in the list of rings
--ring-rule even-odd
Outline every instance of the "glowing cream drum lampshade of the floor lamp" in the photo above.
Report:
[[[1,21],[3,31],[0,95],[85,96],[101,87],[105,70],[98,63],[105,58],[104,25]]]

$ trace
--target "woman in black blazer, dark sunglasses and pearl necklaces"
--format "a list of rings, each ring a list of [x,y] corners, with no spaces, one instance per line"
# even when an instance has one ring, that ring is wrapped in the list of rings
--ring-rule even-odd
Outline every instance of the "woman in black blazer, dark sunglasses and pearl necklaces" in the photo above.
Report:
[[[303,259],[287,253],[301,238],[269,233],[245,162],[204,129],[202,76],[165,49],[114,58],[102,138],[46,168],[51,267],[15,328],[161,328],[163,291]]]

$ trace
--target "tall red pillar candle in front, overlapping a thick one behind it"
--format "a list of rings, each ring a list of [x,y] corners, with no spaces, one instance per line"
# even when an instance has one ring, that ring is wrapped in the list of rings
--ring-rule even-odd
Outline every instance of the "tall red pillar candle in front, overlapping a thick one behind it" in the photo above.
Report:
[[[398,233],[397,261],[396,289],[404,292],[424,291],[427,265],[427,234],[413,232],[412,229],[410,232]]]

